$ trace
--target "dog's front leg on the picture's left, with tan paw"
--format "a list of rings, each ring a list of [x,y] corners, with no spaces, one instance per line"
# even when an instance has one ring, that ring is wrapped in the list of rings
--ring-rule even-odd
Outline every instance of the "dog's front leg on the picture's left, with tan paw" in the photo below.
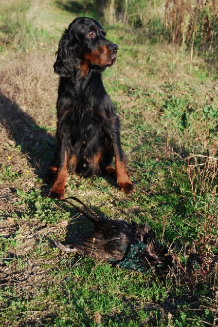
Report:
[[[67,150],[62,138],[57,138],[57,167],[55,183],[50,189],[48,196],[62,200],[64,198],[65,186],[67,182]]]

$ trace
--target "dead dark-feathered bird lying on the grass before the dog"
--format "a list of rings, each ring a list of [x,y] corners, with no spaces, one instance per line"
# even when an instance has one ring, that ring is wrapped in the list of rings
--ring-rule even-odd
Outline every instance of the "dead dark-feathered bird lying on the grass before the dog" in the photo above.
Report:
[[[83,208],[68,201],[73,199]],[[63,200],[87,217],[94,230],[90,236],[73,245],[55,245],[65,252],[79,252],[94,259],[100,259],[122,268],[145,273],[152,266],[165,269],[172,266],[172,257],[167,248],[155,237],[155,232],[147,225],[139,226],[135,222],[101,219],[91,208],[75,197]]]

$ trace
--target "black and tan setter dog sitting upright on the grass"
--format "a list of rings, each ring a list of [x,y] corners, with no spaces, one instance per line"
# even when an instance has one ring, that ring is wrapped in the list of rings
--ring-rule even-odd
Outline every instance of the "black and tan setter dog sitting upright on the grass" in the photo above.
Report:
[[[64,198],[67,172],[83,177],[108,173],[131,193],[120,142],[120,121],[105,91],[101,73],[116,61],[118,46],[105,38],[98,21],[78,17],[59,41],[55,73],[57,98],[55,184],[50,197]],[[115,169],[111,167],[115,157]]]

